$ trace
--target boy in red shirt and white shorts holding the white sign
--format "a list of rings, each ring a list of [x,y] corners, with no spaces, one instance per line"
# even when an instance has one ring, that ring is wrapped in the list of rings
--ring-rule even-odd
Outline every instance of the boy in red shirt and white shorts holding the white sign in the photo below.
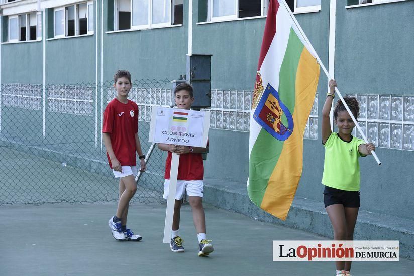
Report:
[[[194,92],[192,86],[187,83],[177,85],[174,90],[175,103],[180,109],[191,108],[194,102]],[[179,120],[179,116],[175,118]],[[173,252],[184,252],[182,245],[183,239],[179,235],[180,226],[180,209],[181,200],[184,196],[184,189],[187,191],[189,203],[192,208],[192,216],[194,225],[197,230],[198,238],[198,256],[207,256],[213,252],[213,245],[207,240],[205,234],[205,213],[202,206],[203,197],[203,178],[204,166],[202,162],[202,153],[207,152],[207,148],[188,147],[180,145],[158,144],[158,148],[167,151],[167,160],[165,162],[165,181],[164,181],[164,195],[168,197],[168,187],[170,179],[171,157],[172,153],[180,155],[178,165],[177,188],[175,193],[174,218],[171,231],[170,247]]]

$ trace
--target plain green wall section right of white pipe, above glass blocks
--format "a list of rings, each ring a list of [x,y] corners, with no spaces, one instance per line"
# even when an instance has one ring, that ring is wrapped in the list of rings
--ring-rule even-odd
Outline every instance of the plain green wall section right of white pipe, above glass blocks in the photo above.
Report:
[[[337,1],[335,75],[343,93],[412,91],[414,2],[345,9]]]

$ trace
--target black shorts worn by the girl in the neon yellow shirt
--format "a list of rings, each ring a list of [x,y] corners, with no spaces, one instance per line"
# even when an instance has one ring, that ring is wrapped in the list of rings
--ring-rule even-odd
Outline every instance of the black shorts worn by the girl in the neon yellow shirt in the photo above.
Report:
[[[324,190],[325,207],[332,204],[342,204],[344,207],[359,207],[359,191],[344,191],[325,186]]]

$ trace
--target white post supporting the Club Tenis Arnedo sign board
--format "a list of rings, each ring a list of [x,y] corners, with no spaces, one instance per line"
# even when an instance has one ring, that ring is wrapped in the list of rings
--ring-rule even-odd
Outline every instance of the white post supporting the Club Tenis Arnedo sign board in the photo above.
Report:
[[[165,213],[164,240],[162,241],[163,243],[171,242],[172,219],[174,218],[175,191],[177,189],[179,161],[180,156],[176,153],[172,153],[170,184],[168,186],[167,210]]]

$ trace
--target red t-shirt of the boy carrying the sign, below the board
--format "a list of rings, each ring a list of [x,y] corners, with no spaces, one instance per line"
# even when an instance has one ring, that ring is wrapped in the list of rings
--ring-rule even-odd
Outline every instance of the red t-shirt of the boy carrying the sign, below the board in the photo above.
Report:
[[[209,141],[207,141],[209,146]],[[172,153],[168,152],[167,160],[165,161],[165,179],[170,179],[171,171],[171,157]],[[204,179],[204,165],[202,163],[201,154],[181,154],[178,163],[178,180],[203,180]]]

